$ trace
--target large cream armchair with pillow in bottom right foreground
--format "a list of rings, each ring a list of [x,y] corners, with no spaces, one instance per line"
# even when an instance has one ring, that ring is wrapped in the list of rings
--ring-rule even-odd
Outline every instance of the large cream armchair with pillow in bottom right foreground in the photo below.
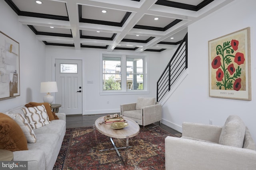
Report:
[[[181,138],[165,139],[166,170],[255,170],[255,143],[234,118],[228,117],[223,127],[182,123]]]

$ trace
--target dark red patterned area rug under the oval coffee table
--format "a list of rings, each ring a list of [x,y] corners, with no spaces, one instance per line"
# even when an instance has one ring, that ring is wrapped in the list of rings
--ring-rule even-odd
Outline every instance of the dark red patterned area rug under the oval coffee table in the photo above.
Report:
[[[147,128],[149,128],[147,126]],[[174,136],[160,127],[153,129],[140,128],[136,137],[129,139],[128,161],[123,166],[110,138],[95,130],[98,144],[95,140],[93,127],[78,127],[66,129],[60,153],[54,165],[54,170],[164,170],[165,148],[164,139]],[[126,139],[112,138],[116,147],[125,147]],[[125,158],[125,150],[119,150]]]

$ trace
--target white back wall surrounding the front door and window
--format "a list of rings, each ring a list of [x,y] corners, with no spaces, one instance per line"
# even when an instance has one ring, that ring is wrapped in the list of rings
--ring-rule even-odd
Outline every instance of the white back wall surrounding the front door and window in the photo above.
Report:
[[[136,102],[138,96],[156,97],[156,81],[164,69],[159,62],[161,58],[160,53],[144,52],[149,58],[149,94],[100,95],[100,72],[102,71],[102,68],[100,68],[100,59],[102,53],[106,53],[106,49],[81,48],[81,50],[75,50],[73,47],[47,46],[46,74],[52,74],[52,77],[49,77],[49,79],[52,78],[52,80],[55,80],[55,59],[82,60],[83,114],[115,113],[120,111],[120,104]],[[116,50],[112,53],[138,55],[133,51],[124,50]],[[92,80],[93,84],[87,84],[88,80]],[[107,104],[107,101],[109,101],[109,104]]]

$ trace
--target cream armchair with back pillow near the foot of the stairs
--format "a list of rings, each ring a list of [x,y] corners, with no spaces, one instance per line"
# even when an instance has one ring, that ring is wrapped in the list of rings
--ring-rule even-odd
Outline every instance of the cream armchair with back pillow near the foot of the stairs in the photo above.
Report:
[[[162,106],[156,98],[139,97],[136,103],[120,105],[120,114],[137,121],[139,125],[146,126],[162,119]]]

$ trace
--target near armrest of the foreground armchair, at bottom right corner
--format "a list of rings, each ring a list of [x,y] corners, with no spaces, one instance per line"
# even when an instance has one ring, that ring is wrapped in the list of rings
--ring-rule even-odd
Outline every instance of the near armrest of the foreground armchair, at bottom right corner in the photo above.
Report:
[[[256,151],[214,143],[166,137],[166,170],[250,170],[256,167]]]

